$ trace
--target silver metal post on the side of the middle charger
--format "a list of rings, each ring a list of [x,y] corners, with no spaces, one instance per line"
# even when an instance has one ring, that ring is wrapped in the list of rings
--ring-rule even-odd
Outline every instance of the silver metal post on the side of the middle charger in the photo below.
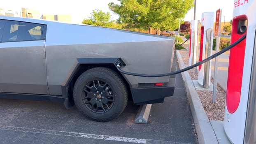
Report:
[[[208,58],[211,56],[211,37],[212,37],[212,29],[208,29],[206,31],[206,48],[205,48],[205,58]],[[209,73],[210,73],[210,61],[207,61],[205,63],[205,69],[204,69],[204,88],[209,88]]]

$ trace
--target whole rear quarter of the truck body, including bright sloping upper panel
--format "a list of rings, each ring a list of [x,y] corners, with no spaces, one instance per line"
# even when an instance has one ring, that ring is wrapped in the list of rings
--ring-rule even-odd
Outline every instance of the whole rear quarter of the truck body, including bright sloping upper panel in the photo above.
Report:
[[[126,63],[123,70],[128,72],[144,74],[170,72],[171,54],[174,51],[172,39],[95,26],[71,25],[69,29],[63,30],[65,25],[47,26],[46,60],[49,85],[65,86],[67,83],[65,77],[69,77],[72,66],[77,65],[76,58],[120,57]],[[48,32],[51,31],[55,33],[48,36]],[[55,37],[65,33],[72,36],[66,35],[61,39],[58,38],[56,42]],[[133,88],[138,87],[138,83],[169,81],[169,76],[144,78],[126,75],[126,78],[130,79]]]

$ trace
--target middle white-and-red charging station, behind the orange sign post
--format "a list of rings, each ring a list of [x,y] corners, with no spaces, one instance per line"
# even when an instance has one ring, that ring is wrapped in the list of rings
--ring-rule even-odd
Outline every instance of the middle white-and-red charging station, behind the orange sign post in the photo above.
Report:
[[[199,61],[212,55],[213,21],[214,12],[202,13]],[[211,84],[211,62],[212,60],[198,67],[198,83],[204,88],[208,88]]]

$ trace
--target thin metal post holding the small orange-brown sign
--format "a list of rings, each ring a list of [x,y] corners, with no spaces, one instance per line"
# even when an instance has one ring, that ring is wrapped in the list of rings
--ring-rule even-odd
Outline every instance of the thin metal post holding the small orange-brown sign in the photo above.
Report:
[[[216,50],[215,53],[219,52],[219,42],[220,42],[220,34],[221,34],[221,10],[220,10],[220,16],[219,16],[219,33],[218,37],[216,37]],[[212,95],[212,102],[216,102],[216,93],[217,93],[217,79],[218,79],[218,61],[219,56],[215,58],[214,61],[214,82],[213,82],[213,95]]]

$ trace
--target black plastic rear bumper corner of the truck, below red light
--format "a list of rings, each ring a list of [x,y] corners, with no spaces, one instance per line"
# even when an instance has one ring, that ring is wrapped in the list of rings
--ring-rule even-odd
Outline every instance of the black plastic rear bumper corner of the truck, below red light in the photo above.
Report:
[[[175,78],[171,77],[165,86],[132,88],[133,102],[137,105],[161,103],[165,97],[172,96],[175,88]]]

